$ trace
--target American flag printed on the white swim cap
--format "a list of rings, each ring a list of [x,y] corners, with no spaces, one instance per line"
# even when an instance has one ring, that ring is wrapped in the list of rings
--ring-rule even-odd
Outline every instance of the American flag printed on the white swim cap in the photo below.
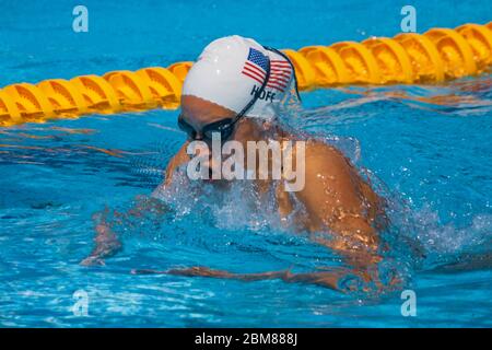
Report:
[[[257,49],[249,48],[249,54],[244,63],[242,73],[262,84],[267,75],[268,58]],[[267,88],[283,92],[291,79],[292,68],[286,60],[270,60],[270,79]]]

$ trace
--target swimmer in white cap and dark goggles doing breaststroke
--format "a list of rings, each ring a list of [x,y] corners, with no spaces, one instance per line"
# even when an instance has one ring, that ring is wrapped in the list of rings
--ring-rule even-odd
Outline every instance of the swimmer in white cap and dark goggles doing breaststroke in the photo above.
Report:
[[[304,212],[296,217],[296,230],[308,232],[315,243],[336,250],[353,268],[331,268],[309,273],[269,271],[235,275],[191,267],[165,273],[241,280],[278,278],[336,290],[341,289],[341,281],[348,277],[378,283],[375,271],[380,260],[378,232],[386,224],[384,199],[335,147],[295,136],[277,122],[286,94],[293,92],[298,95],[292,62],[276,49],[241,36],[229,36],[209,44],[191,67],[183,86],[178,126],[187,133],[188,140],[167,164],[165,178],[154,190],[153,197],[159,198],[159,194],[171,186],[176,173],[190,162],[187,152],[189,143],[203,141],[210,144],[214,132],[220,135],[222,142],[237,141],[245,149],[248,141],[304,140],[304,154],[294,152],[293,155],[304,155],[304,187],[301,190],[288,191],[285,180],[272,178],[256,179],[255,188],[260,198],[268,190],[274,191],[280,219],[288,218],[294,212],[295,205],[301,203]],[[272,162],[271,156],[268,162]],[[209,166],[212,170],[214,162],[211,161]],[[151,206],[159,210],[161,205],[157,200]],[[137,208],[133,212],[138,214],[147,209]],[[116,235],[104,220],[99,220],[96,232],[96,247],[82,261],[83,265],[103,264],[105,257],[120,248]]]

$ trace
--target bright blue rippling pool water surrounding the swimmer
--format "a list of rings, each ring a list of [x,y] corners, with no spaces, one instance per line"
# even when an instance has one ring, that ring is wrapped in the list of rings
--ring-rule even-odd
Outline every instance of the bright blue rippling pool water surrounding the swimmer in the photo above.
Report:
[[[412,1],[418,31],[492,20],[490,1]],[[73,1],[1,1],[0,84],[167,66],[215,37],[241,34],[300,48],[400,31],[406,1],[84,1],[89,33],[71,30]],[[0,129],[0,326],[492,326],[492,79],[432,86],[333,89],[303,94],[288,120],[330,138],[387,197],[391,261],[417,295],[341,294],[279,280],[238,282],[136,276],[132,269],[206,265],[237,272],[337,264],[326,249],[225,202],[115,224],[124,250],[106,266],[92,215],[148,196],[185,136],[177,112],[91,116]],[[338,137],[338,139],[335,139]],[[110,152],[102,152],[110,150]],[[405,249],[411,236],[425,258]],[[73,293],[89,296],[86,316]]]

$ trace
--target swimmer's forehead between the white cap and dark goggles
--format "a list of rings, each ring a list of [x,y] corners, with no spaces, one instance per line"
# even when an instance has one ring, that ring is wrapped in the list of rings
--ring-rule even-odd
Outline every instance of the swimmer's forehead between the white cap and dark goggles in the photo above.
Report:
[[[235,116],[233,110],[210,101],[189,95],[181,97],[181,118],[195,129],[197,140],[203,139],[201,131],[204,126]]]

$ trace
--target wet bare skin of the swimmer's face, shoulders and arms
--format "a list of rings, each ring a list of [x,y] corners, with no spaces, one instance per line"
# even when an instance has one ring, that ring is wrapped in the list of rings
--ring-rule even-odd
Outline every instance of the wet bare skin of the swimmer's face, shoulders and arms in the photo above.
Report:
[[[197,139],[200,140],[202,139],[200,130],[203,126],[234,117],[235,113],[209,101],[195,96],[183,96],[181,116],[195,128]],[[246,149],[247,141],[268,140],[272,137],[279,141],[295,140],[292,135],[281,130],[278,126],[247,117],[236,124],[229,140],[242,142]],[[155,191],[163,190],[173,182],[176,168],[190,160],[186,152],[187,145],[188,141],[169,161],[165,179]],[[296,154],[294,153],[293,156],[295,158]],[[211,163],[211,166],[214,164]],[[279,215],[284,218],[292,212],[294,207],[291,199],[292,192],[289,195],[284,190],[282,182],[256,180],[255,185],[260,194],[266,192],[271,186],[276,186]],[[340,285],[341,280],[355,277],[363,282],[374,282],[380,287],[376,272],[377,264],[380,260],[377,254],[379,246],[377,232],[384,228],[386,221],[383,210],[384,200],[361,178],[350,161],[331,145],[316,140],[307,140],[305,186],[302,190],[293,194],[306,209],[305,215],[296,218],[297,229],[311,232],[311,238],[314,242],[335,249],[353,268],[329,269],[311,273],[272,271],[238,275],[207,267],[137,272],[202,276],[245,281],[282,279],[286,282],[315,283],[336,290],[345,289]],[[134,211],[139,212],[139,210],[145,210],[145,208],[138,208]],[[116,240],[107,225],[98,223],[96,231],[98,233],[96,248],[89,258],[82,261],[84,265],[102,264],[102,258],[114,254],[113,246],[116,250],[120,248],[118,244],[114,243]],[[327,233],[327,236],[320,236],[319,232]],[[97,253],[103,254],[98,255]]]

